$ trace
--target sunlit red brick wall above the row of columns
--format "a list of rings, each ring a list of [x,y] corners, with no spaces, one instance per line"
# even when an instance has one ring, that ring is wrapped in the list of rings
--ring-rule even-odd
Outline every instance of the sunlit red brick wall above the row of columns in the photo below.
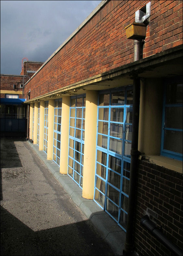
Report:
[[[26,85],[31,99],[134,61],[125,27],[149,1],[109,1]],[[182,44],[182,1],[151,1],[143,57]]]

